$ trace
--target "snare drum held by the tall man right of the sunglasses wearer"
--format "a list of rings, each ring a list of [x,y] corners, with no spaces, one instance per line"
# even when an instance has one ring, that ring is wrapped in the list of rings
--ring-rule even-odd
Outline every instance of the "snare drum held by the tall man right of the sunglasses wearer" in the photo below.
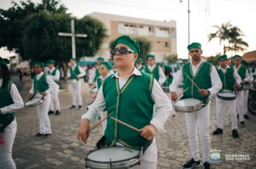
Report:
[[[201,110],[203,102],[194,98],[180,99],[173,102],[173,107],[176,112],[196,112]]]

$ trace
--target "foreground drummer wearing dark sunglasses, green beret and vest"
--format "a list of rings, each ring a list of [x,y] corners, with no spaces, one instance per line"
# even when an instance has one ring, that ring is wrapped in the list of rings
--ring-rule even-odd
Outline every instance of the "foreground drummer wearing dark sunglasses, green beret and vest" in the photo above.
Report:
[[[82,116],[78,139],[86,143],[89,124],[98,119],[106,106],[108,114],[113,112],[111,117],[141,130],[136,132],[108,118],[105,130],[106,144],[141,150],[145,143],[149,143],[149,147],[141,157],[140,166],[134,168],[155,169],[157,166],[155,132],[164,131],[163,125],[172,110],[170,100],[160,84],[153,79],[153,74],[140,72],[134,67],[140,52],[137,41],[122,36],[114,41],[114,47],[115,49],[111,49],[111,54],[114,55],[117,72],[106,77],[99,88],[96,100]],[[154,104],[156,112],[153,115]]]

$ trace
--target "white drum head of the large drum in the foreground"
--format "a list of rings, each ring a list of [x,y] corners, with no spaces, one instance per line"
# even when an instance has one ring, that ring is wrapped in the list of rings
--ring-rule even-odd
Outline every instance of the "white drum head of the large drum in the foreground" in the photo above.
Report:
[[[140,151],[125,147],[113,147],[95,150],[88,154],[87,159],[99,163],[109,163],[136,158]]]

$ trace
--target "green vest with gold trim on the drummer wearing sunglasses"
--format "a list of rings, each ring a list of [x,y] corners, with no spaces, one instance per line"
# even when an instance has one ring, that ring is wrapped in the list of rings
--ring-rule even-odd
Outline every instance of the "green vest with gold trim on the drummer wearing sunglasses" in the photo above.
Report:
[[[154,105],[151,98],[153,75],[143,72],[142,76],[132,75],[121,90],[119,79],[111,77],[106,77],[103,83],[103,95],[108,114],[113,112],[111,117],[122,120],[137,129],[150,125]],[[119,142],[128,148],[140,150],[147,141],[140,132],[131,130],[110,117],[107,119],[104,134],[106,144],[109,146]]]

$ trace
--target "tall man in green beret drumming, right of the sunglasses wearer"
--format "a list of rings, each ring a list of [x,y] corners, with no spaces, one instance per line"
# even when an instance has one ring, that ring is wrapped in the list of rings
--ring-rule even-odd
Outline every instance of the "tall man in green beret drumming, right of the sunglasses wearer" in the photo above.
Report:
[[[183,98],[196,98],[203,101],[205,106],[196,112],[185,113],[186,127],[188,130],[188,139],[191,149],[191,160],[188,161],[183,168],[193,168],[201,165],[200,158],[198,157],[198,139],[197,128],[201,137],[201,151],[202,161],[204,168],[210,168],[210,164],[207,161],[208,155],[210,155],[210,95],[215,95],[221,90],[222,84],[219,78],[216,68],[209,62],[204,62],[201,59],[201,44],[193,42],[188,45],[188,51],[192,58],[192,62],[188,62],[181,67],[177,73],[177,77],[173,79],[173,83],[170,85],[170,92],[172,100],[177,100],[178,85],[183,84],[183,90],[187,89],[183,94]],[[193,79],[200,90],[188,79],[186,74]]]

